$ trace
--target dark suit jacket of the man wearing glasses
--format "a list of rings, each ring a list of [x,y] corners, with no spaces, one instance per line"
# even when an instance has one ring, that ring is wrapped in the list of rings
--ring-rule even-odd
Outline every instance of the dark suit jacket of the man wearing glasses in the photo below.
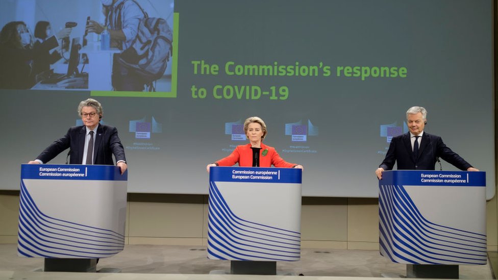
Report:
[[[82,126],[72,126],[66,135],[54,141],[36,158],[43,163],[51,161],[63,150],[70,148],[70,164],[81,164],[83,161],[83,150],[85,148],[86,128]],[[114,165],[112,155],[116,161],[126,161],[124,148],[117,136],[117,129],[113,126],[98,124],[95,144],[93,149],[93,163]]]

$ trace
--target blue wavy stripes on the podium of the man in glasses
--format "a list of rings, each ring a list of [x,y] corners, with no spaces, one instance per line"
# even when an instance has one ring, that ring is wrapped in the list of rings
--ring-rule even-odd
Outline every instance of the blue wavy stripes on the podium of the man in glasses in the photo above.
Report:
[[[123,250],[123,235],[104,228],[49,217],[38,209],[22,181],[20,188],[19,256],[108,258]]]

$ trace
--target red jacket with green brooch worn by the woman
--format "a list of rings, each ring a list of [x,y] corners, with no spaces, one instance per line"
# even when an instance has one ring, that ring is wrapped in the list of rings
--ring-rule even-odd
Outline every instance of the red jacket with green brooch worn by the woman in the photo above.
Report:
[[[267,150],[266,155],[263,156],[263,151]],[[232,166],[239,163],[239,166],[251,167],[253,166],[253,149],[251,143],[237,146],[230,156],[216,161],[219,166]],[[284,161],[275,148],[261,143],[261,150],[259,151],[259,166],[261,167],[294,167],[295,163]]]

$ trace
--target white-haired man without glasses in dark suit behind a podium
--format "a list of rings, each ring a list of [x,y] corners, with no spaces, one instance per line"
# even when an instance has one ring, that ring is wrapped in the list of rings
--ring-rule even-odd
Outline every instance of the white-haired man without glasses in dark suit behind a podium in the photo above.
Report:
[[[441,137],[424,132],[427,110],[414,106],[406,112],[409,132],[393,137],[384,161],[375,171],[382,179],[384,170],[392,170],[397,162],[398,170],[434,170],[437,158],[441,158],[460,170],[479,171],[443,143]]]

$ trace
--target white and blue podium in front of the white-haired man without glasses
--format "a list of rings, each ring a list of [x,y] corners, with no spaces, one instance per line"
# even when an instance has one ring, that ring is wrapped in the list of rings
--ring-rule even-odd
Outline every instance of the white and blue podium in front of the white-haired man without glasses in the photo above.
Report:
[[[379,242],[407,277],[458,278],[458,265],[486,264],[486,173],[384,171]]]

